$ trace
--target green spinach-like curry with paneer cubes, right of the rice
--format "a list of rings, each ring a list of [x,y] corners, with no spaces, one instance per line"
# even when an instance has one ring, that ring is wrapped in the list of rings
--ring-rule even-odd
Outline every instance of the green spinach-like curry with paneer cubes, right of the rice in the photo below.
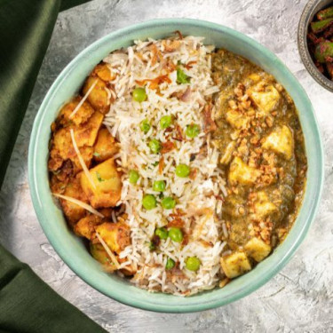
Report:
[[[297,110],[272,75],[226,50],[213,54],[216,101],[214,145],[222,153],[228,278],[266,258],[297,218],[307,162]]]

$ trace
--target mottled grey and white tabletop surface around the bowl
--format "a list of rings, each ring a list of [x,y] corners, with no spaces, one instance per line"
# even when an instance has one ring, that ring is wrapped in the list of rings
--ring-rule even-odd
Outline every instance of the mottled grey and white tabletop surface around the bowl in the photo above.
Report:
[[[333,93],[305,71],[297,22],[306,0],[95,0],[59,15],[0,194],[0,242],[61,296],[112,332],[333,332]],[[210,20],[275,52],[305,87],[325,145],[319,214],[280,274],[234,304],[202,313],[149,313],[91,289],[58,257],[38,224],[28,189],[28,141],[37,109],[59,72],[101,36],[165,17]]]

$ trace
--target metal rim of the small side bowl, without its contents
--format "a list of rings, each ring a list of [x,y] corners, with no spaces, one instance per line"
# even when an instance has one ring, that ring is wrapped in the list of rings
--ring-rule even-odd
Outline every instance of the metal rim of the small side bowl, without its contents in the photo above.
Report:
[[[305,9],[302,12],[298,24],[297,44],[299,55],[301,56],[307,71],[313,76],[315,81],[321,84],[322,87],[333,92],[333,81],[329,80],[325,75],[322,75],[318,68],[315,67],[307,46],[306,38],[307,29],[310,22],[313,20],[314,15],[329,5],[333,5],[332,0],[310,0],[305,5]]]

